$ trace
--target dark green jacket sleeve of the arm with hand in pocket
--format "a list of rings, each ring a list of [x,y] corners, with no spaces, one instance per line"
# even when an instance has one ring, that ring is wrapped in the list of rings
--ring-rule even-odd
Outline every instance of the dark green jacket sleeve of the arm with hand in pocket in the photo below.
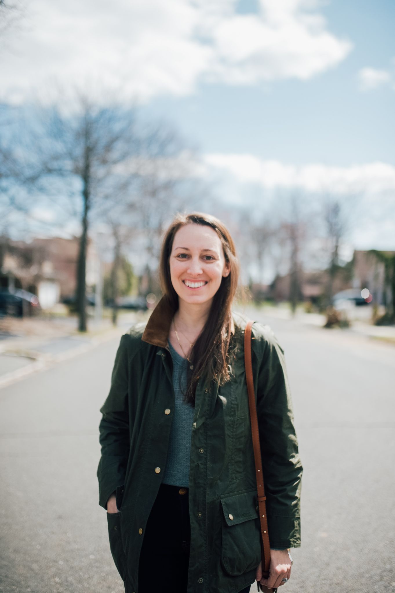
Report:
[[[107,509],[107,500],[113,492],[118,495],[125,484],[129,455],[128,410],[128,334],[119,343],[112,371],[109,395],[100,408],[99,425],[101,458],[97,468],[99,505]],[[118,498],[118,497],[117,497]],[[118,505],[117,505],[118,506]]]

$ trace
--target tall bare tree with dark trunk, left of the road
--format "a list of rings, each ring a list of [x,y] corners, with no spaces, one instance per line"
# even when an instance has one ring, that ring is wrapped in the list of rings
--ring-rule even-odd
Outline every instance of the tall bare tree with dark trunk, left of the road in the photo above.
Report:
[[[72,108],[68,112],[59,106],[42,109],[40,129],[32,130],[30,142],[36,145],[39,170],[36,191],[50,199],[55,195],[58,204],[64,203],[66,196],[69,215],[79,211],[78,329],[86,331],[85,276],[90,218],[109,196],[114,201],[110,187],[114,189],[123,177],[117,167],[136,152],[135,110],[122,109],[117,104],[98,106],[80,91],[75,93]]]

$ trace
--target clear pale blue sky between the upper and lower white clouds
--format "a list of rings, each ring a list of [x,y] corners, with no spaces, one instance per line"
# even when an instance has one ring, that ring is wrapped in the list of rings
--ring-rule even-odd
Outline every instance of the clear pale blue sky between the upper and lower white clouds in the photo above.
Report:
[[[241,2],[248,11],[255,2]],[[395,3],[333,0],[323,5],[330,31],[353,43],[335,68],[308,81],[253,87],[201,84],[184,98],[154,98],[148,109],[179,122],[209,152],[251,152],[302,165],[394,162],[394,89],[361,93],[360,69],[395,74]]]

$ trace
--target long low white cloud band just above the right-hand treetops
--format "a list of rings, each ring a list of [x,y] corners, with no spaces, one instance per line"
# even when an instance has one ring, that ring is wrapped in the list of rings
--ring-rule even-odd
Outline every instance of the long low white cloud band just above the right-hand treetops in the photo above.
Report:
[[[383,162],[350,167],[322,164],[297,166],[260,160],[250,154],[208,154],[205,162],[208,165],[206,174],[222,170],[241,183],[255,183],[266,189],[373,196],[395,192],[395,167]]]

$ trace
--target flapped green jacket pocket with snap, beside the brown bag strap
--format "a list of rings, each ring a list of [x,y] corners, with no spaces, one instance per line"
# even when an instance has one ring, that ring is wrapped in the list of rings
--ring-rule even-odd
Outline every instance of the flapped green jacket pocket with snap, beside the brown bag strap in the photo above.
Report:
[[[262,559],[256,490],[221,495],[222,565],[229,575],[257,568]]]

